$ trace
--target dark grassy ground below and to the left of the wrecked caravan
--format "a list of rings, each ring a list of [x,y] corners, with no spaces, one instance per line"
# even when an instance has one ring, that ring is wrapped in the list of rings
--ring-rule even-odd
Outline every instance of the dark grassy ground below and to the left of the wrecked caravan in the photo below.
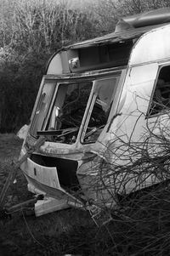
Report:
[[[22,141],[0,135],[0,187],[20,154]],[[17,174],[8,199],[21,202],[30,194]],[[128,198],[110,224],[97,228],[88,212],[69,208],[41,217],[14,213],[0,219],[0,255],[165,256],[170,251],[170,191],[158,185]]]

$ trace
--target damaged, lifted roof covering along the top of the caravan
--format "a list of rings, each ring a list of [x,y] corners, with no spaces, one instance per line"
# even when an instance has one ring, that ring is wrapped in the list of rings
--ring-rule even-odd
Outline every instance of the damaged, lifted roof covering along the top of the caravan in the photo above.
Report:
[[[103,44],[121,43],[139,38],[145,32],[170,23],[170,8],[153,9],[142,14],[127,16],[119,20],[116,30],[103,37],[74,43],[64,49],[95,47]]]

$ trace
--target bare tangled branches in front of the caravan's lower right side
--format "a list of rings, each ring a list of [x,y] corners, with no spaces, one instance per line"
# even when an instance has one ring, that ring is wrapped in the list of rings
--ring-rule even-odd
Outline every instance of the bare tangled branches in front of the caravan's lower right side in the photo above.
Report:
[[[135,128],[128,137],[115,134],[105,154],[88,164],[89,176],[83,179],[83,189],[90,186],[88,196],[112,214],[107,229],[109,252],[114,255],[169,251],[169,114],[153,120],[138,141],[133,137]]]

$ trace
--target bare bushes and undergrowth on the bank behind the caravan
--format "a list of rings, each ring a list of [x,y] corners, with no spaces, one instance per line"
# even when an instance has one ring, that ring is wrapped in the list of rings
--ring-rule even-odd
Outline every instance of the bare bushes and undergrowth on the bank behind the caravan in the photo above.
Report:
[[[139,3],[143,8],[137,8]],[[100,0],[81,9],[70,7],[69,1],[0,0],[0,132],[16,132],[29,123],[45,65],[54,51],[114,31],[122,14],[170,5],[150,0],[155,5],[146,8],[144,3],[148,1]]]

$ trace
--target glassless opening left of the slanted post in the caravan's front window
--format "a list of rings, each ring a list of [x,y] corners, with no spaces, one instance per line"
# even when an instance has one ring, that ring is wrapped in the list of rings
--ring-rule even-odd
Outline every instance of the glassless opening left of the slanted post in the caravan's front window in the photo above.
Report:
[[[57,132],[58,136],[53,136],[54,141],[63,143],[74,143],[76,141],[92,85],[93,82],[59,84],[45,128],[45,130]]]

